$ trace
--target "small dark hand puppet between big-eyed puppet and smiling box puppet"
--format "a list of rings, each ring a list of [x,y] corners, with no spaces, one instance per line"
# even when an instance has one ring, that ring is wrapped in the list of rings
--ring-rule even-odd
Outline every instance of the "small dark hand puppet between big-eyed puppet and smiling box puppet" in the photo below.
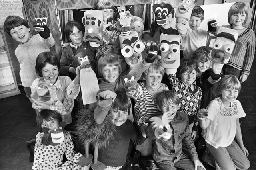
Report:
[[[157,57],[157,52],[158,52],[158,47],[157,47],[157,43],[154,41],[148,41],[146,43],[146,53],[147,56],[145,57],[145,61],[147,63],[153,63]]]

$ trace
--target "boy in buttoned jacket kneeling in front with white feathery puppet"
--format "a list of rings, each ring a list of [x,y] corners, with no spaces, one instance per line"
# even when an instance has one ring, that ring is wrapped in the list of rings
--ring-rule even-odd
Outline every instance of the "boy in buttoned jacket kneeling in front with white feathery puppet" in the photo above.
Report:
[[[158,95],[156,103],[162,114],[168,114],[167,126],[173,132],[170,139],[165,139],[161,137],[164,131],[159,127],[153,129],[154,125],[149,125],[145,128],[147,137],[155,139],[153,158],[157,166],[163,170],[176,170],[177,168],[205,170],[198,160],[196,147],[190,135],[188,117],[178,111],[179,96],[167,90]],[[183,152],[182,147],[186,149],[187,154]]]

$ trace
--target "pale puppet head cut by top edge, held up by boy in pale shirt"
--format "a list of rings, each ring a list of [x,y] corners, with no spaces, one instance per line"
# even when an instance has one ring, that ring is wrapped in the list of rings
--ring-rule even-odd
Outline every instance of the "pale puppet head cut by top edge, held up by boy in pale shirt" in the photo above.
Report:
[[[196,0],[180,0],[178,8],[175,12],[176,22],[186,24],[190,20],[192,10],[195,6]]]

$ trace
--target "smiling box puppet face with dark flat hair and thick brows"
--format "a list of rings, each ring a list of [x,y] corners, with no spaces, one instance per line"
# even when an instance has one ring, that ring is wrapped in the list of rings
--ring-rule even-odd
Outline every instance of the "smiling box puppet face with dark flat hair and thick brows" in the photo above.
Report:
[[[161,63],[164,69],[177,69],[180,66],[180,37],[179,35],[161,34],[160,36]],[[168,73],[167,73],[168,74]]]

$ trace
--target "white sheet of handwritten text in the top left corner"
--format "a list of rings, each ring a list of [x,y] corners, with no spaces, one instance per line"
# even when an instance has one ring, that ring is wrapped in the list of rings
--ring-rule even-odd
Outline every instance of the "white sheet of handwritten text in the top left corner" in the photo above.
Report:
[[[4,25],[4,20],[7,16],[24,18],[22,7],[22,0],[0,0],[0,25]]]

